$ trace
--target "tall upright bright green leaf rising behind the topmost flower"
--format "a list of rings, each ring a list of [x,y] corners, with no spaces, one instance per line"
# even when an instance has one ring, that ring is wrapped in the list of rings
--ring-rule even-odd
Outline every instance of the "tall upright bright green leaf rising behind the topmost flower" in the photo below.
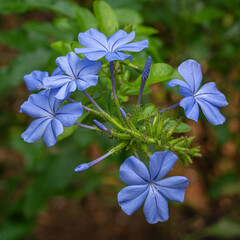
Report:
[[[99,29],[102,33],[110,37],[118,30],[118,20],[113,9],[103,1],[95,1],[93,10],[97,18]]]

